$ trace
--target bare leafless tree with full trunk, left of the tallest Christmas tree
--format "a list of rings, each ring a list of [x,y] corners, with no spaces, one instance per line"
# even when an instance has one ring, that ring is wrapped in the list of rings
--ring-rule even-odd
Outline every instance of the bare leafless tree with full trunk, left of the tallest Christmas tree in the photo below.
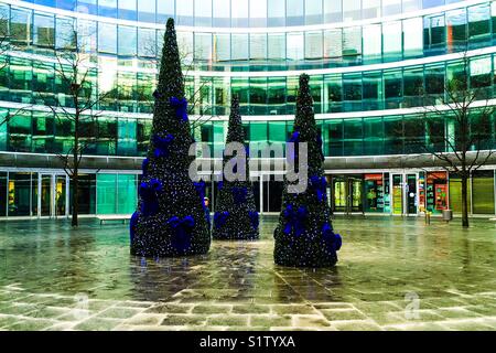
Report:
[[[79,167],[89,146],[98,139],[97,118],[100,104],[116,94],[116,89],[98,92],[96,85],[97,67],[91,61],[90,33],[74,28],[67,33],[63,44],[57,43],[54,51],[54,71],[63,87],[63,94],[50,98],[39,95],[56,119],[72,125],[73,141],[69,148],[58,154],[62,168],[71,179],[72,225],[78,225]]]

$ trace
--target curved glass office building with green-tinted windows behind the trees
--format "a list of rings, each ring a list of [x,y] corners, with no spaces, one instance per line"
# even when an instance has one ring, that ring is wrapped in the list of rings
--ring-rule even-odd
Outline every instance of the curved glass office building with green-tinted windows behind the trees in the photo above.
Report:
[[[460,178],[432,157],[423,164],[410,157],[431,143],[419,107],[425,96],[433,105],[443,100],[444,83],[463,74],[464,57],[481,100],[496,98],[494,1],[0,0],[0,25],[10,33],[0,65],[0,118],[8,118],[0,126],[0,217],[69,214],[72,189],[57,154],[71,148],[74,127],[40,97],[56,96],[71,108],[54,50],[74,26],[85,29],[91,89],[114,92],[98,107],[98,138],[84,158],[82,212],[134,210],[157,47],[170,17],[187,67],[186,90],[195,96],[191,119],[208,117],[192,133],[213,152],[223,149],[233,95],[251,143],[284,142],[304,72],[334,212],[460,211]],[[448,118],[438,124],[445,133],[452,129]],[[493,148],[495,130],[493,117]],[[472,175],[473,214],[495,214],[495,169],[492,162]],[[261,212],[280,208],[280,172],[255,174]],[[215,182],[208,193],[214,201]]]

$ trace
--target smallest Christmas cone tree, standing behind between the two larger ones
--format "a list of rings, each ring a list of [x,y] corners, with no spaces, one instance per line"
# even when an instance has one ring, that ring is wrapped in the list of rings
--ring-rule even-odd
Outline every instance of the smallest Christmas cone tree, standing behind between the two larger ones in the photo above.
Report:
[[[226,146],[231,142],[238,142],[245,148],[245,132],[242,130],[241,116],[239,115],[239,101],[233,98],[230,105],[229,127],[227,131]],[[237,158],[235,156],[224,156],[224,168]],[[240,163],[239,163],[240,162]],[[245,167],[242,167],[245,165]],[[239,168],[239,169],[238,169]],[[234,172],[238,172],[242,180],[228,181],[223,180],[214,214],[214,239],[258,239],[258,212],[255,206],[255,197],[251,182],[249,180],[248,160],[238,160]],[[230,170],[230,169],[229,169]]]

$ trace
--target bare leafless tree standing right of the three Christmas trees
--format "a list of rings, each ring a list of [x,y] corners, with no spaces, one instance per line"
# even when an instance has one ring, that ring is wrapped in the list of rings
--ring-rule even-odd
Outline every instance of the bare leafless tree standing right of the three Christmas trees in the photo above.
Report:
[[[477,58],[475,58],[477,60]],[[492,137],[492,118],[496,106],[492,105],[487,75],[476,75],[474,58],[466,54],[460,60],[456,74],[448,77],[443,93],[436,100],[424,97],[423,125],[418,132],[425,131],[427,139],[410,141],[434,157],[448,172],[456,173],[462,183],[462,225],[468,226],[468,180],[473,172],[487,164],[495,153]],[[471,69],[472,64],[472,69]],[[417,135],[410,131],[410,135]]]

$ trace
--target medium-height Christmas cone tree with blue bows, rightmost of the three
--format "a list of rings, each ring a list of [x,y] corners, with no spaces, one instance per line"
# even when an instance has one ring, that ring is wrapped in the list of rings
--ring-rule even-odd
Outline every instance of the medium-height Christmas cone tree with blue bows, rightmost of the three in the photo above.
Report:
[[[273,255],[278,265],[327,267],[337,261],[341,236],[334,234],[332,228],[321,141],[314,119],[309,76],[302,74],[291,142],[308,143],[309,179],[306,189],[300,193],[288,192],[288,186],[296,182],[288,179],[284,181],[282,211],[274,231]],[[298,149],[294,158],[298,158]]]

